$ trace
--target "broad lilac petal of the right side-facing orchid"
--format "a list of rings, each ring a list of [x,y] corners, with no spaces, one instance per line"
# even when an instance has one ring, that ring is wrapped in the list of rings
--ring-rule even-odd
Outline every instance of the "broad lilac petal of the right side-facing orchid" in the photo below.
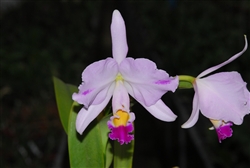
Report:
[[[201,113],[214,120],[240,125],[248,114],[246,83],[237,72],[221,72],[196,79]]]

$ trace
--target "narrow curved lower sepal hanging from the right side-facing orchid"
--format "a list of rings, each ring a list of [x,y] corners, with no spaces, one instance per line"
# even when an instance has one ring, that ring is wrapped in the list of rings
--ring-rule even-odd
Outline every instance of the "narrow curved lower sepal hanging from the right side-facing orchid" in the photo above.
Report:
[[[182,128],[190,128],[194,126],[199,118],[199,97],[197,92],[194,94],[193,110],[189,119],[181,126]]]

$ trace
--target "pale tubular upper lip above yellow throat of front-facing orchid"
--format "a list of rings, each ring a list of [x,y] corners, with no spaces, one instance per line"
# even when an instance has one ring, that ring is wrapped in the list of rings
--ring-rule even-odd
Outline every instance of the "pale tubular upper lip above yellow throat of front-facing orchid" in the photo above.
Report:
[[[121,80],[115,84],[112,98],[112,108],[115,114],[118,110],[129,112],[130,109],[129,95]]]

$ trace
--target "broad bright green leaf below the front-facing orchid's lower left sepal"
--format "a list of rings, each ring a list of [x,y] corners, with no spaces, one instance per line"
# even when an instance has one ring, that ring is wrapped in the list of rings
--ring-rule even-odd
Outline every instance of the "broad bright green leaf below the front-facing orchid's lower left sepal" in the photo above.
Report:
[[[80,107],[74,102],[70,112],[68,127],[70,167],[105,167],[105,150],[109,132],[106,129],[106,123],[109,117],[103,117],[101,120],[95,119],[80,135],[76,132],[75,126],[77,112]]]

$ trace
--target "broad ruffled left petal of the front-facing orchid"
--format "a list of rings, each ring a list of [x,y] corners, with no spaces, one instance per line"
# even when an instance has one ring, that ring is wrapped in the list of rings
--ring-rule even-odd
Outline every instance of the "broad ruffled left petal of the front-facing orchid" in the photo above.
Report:
[[[118,73],[117,62],[112,58],[90,64],[82,73],[82,84],[79,92],[72,99],[85,108],[89,105],[100,104],[106,98],[109,87],[115,81]]]

